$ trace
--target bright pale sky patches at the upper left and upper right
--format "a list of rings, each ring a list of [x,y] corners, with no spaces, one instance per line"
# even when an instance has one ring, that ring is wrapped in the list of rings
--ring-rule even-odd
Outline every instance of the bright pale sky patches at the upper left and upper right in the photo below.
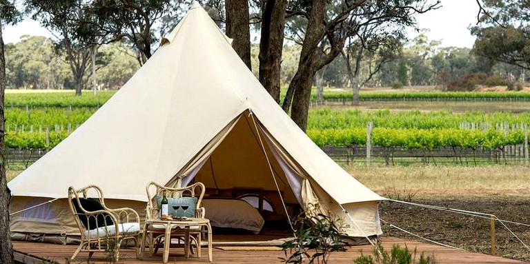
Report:
[[[435,2],[433,0],[433,2]],[[471,36],[468,26],[477,22],[478,5],[475,0],[442,0],[438,10],[431,10],[425,14],[418,14],[418,28],[429,28],[426,33],[430,40],[441,40],[444,47],[472,48],[475,37]],[[26,19],[16,26],[3,28],[3,41],[16,43],[24,34],[50,37],[46,28],[39,23]],[[418,32],[409,30],[409,38]]]

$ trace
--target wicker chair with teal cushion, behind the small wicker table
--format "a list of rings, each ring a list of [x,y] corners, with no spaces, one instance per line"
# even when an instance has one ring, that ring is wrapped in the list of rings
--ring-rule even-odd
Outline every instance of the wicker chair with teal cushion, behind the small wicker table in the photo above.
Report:
[[[195,218],[204,218],[205,210],[204,207],[201,206],[202,199],[204,197],[204,192],[206,188],[204,187],[204,184],[202,183],[193,183],[192,185],[188,185],[187,187],[181,187],[181,188],[173,188],[173,187],[166,187],[159,185],[158,183],[150,182],[148,183],[146,187],[146,192],[148,196],[148,204],[146,208],[146,218],[147,219],[159,219],[160,218],[160,208],[159,208],[159,201],[157,199],[161,198],[163,193],[166,193],[166,196],[168,199],[178,199],[181,197],[195,197],[197,199],[195,212],[193,213],[192,217]],[[151,256],[157,252],[159,247],[163,247],[163,239],[165,234],[165,227],[164,225],[144,225],[144,230],[146,230],[149,238],[149,253]],[[201,238],[202,235],[204,235],[205,231],[202,230],[201,227],[193,226],[190,228],[190,230],[187,230],[191,241],[193,243],[190,243],[190,248],[184,249],[184,254],[187,257],[188,256],[188,250],[194,253],[193,247],[197,248],[197,258],[201,257]],[[174,239],[172,239],[174,238]],[[179,245],[181,242],[186,239],[186,232],[182,230],[179,227],[173,227],[171,230],[170,235],[171,241],[177,242],[176,244],[173,243],[171,245]],[[185,243],[184,243],[185,244]]]

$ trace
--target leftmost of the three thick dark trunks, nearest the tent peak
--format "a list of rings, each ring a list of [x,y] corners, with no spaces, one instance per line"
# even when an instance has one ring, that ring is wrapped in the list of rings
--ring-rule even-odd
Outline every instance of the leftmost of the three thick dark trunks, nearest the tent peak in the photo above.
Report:
[[[226,0],[226,36],[233,39],[232,48],[252,70],[249,20],[247,0]]]

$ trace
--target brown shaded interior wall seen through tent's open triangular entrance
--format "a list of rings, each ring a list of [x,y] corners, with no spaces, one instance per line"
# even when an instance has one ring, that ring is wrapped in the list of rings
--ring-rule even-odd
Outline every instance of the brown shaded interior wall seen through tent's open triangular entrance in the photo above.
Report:
[[[300,203],[303,170],[293,168],[285,150],[259,120],[245,110],[181,168],[167,185],[204,183],[208,190],[279,190],[286,202]],[[269,165],[270,163],[270,165]],[[296,165],[296,164],[295,164]],[[271,175],[272,174],[272,175]],[[275,183],[275,180],[277,183]],[[277,186],[276,186],[277,185]]]

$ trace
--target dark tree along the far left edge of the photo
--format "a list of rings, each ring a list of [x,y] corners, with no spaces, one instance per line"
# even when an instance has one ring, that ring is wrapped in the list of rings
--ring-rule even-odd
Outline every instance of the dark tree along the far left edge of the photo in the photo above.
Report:
[[[4,131],[6,131],[6,59],[4,57],[4,45],[2,27],[4,23],[15,23],[19,17],[14,4],[8,0],[0,0],[0,263],[14,263],[11,233],[9,231],[9,203],[11,191],[6,179],[6,157],[4,156]]]

